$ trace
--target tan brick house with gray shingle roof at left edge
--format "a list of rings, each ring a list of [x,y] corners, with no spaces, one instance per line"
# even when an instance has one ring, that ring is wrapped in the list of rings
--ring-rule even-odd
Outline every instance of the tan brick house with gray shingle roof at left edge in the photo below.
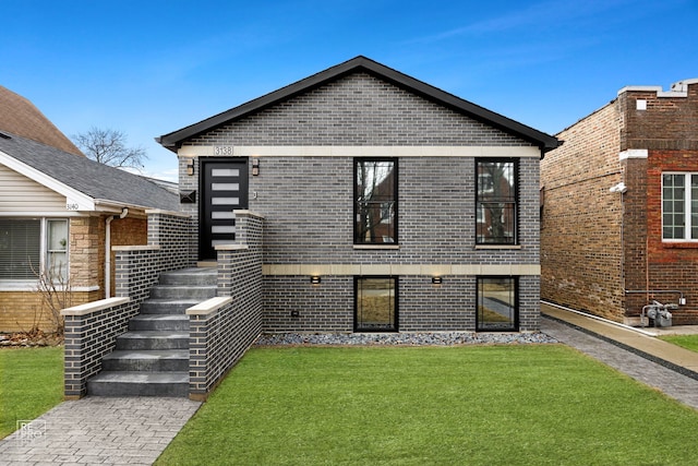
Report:
[[[52,327],[39,276],[67,304],[113,294],[111,246],[147,242],[147,210],[178,198],[87,159],[36,107],[0,88],[0,331]],[[12,131],[11,131],[12,130]]]

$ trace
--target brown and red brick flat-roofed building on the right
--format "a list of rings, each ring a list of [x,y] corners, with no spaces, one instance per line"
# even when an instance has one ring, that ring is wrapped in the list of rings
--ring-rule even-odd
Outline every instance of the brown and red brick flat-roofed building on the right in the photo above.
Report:
[[[698,80],[628,86],[541,163],[541,296],[638,324],[698,324]]]

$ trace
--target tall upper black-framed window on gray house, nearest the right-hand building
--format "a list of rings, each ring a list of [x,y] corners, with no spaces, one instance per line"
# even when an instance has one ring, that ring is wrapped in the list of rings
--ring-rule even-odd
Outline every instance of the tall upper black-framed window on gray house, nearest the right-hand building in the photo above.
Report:
[[[517,163],[512,159],[476,162],[477,244],[517,242]]]

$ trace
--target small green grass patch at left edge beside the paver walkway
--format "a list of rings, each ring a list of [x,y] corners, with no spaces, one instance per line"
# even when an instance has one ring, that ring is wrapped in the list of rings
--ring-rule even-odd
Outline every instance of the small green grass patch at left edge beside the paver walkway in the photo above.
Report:
[[[0,350],[0,439],[62,399],[62,347]]]

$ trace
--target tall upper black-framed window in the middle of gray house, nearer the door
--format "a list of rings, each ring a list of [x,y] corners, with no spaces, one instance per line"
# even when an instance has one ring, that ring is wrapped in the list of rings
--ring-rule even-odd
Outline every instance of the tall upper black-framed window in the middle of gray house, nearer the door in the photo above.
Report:
[[[397,160],[354,160],[354,244],[397,242]]]

